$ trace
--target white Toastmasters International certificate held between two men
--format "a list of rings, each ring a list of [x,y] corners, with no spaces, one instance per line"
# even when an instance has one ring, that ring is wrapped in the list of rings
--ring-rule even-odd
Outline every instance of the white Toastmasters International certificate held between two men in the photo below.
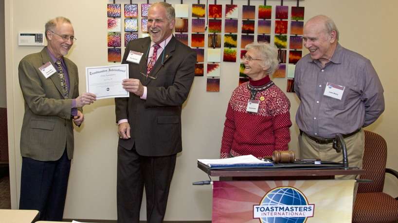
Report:
[[[128,97],[123,79],[128,79],[128,64],[86,67],[87,92],[96,95],[97,99]]]

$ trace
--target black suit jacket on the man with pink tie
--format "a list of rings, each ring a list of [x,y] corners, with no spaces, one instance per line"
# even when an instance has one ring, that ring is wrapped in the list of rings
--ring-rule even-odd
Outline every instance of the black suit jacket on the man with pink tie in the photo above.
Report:
[[[142,156],[168,156],[182,151],[181,110],[195,77],[196,53],[173,36],[149,73],[156,80],[145,80],[150,43],[150,37],[130,41],[123,57],[129,77],[147,87],[147,96],[115,98],[116,122],[128,119],[131,127],[131,138],[119,139],[119,145],[130,150],[135,143]],[[126,61],[130,50],[143,53],[140,64]]]

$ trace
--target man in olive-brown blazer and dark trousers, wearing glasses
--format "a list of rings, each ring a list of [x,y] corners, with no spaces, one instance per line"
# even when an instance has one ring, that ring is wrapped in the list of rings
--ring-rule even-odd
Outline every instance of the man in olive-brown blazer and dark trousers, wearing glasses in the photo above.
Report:
[[[40,211],[40,220],[62,221],[73,157],[72,121],[80,126],[81,107],[96,99],[91,93],[79,96],[77,66],[63,57],[76,40],[71,21],[56,17],[45,29],[47,47],[25,56],[18,67],[25,100],[19,209]]]

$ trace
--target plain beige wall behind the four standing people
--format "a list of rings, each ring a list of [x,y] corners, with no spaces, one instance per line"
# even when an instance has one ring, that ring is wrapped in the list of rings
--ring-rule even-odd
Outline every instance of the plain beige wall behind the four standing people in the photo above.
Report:
[[[180,1],[167,1],[179,4]],[[218,0],[218,4],[230,4]],[[68,55],[79,67],[80,92],[85,91],[85,67],[107,64],[107,3],[106,0],[72,0],[68,2],[42,0],[5,0],[7,107],[9,117],[9,143],[11,162],[12,207],[17,208],[21,157],[19,154],[20,127],[23,117],[23,98],[18,85],[18,63],[27,54],[41,50],[39,47],[19,47],[18,32],[44,31],[44,23],[55,16],[72,20],[78,39]],[[117,3],[129,3],[119,0]],[[143,2],[145,3],[145,2]],[[184,1],[191,5],[197,1]],[[202,1],[201,3],[205,3]],[[212,2],[213,3],[213,2]],[[241,13],[244,0],[235,0]],[[263,1],[251,1],[263,4]],[[268,5],[280,0],[268,0]],[[285,0],[284,5],[295,6],[296,1]],[[333,18],[340,30],[343,47],[369,58],[378,71],[384,87],[386,110],[379,120],[366,129],[381,134],[389,145],[387,166],[398,170],[395,157],[398,151],[396,96],[398,95],[398,70],[395,39],[395,14],[398,1],[386,0],[305,0],[305,21],[324,14]],[[257,7],[258,8],[258,7]],[[273,8],[274,10],[274,8]],[[38,13],[43,12],[43,13]],[[273,11],[274,16],[274,11]],[[388,24],[388,25],[387,25]],[[272,26],[273,27],[273,26]],[[207,40],[207,37],[206,37]],[[240,46],[240,40],[238,40]],[[304,50],[307,54],[308,50]],[[171,185],[165,220],[211,220],[211,186],[192,186],[192,182],[207,180],[205,173],[196,167],[196,159],[218,158],[223,123],[228,100],[237,86],[239,63],[221,63],[220,92],[206,92],[206,78],[196,77],[190,96],[182,111],[183,151],[178,155],[176,171]],[[273,79],[286,90],[286,78]],[[291,150],[298,152],[294,117],[299,101],[295,94],[287,93],[291,102]],[[66,200],[64,218],[116,219],[116,145],[114,102],[102,99],[84,107],[85,122],[75,128],[75,152]],[[214,178],[217,180],[217,178]],[[398,196],[398,181],[387,176],[385,191]],[[144,212],[145,207],[142,209]],[[145,214],[142,214],[145,219]]]

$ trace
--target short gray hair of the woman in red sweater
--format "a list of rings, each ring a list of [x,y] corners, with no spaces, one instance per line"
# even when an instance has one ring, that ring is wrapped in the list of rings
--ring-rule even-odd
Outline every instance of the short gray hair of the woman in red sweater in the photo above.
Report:
[[[246,45],[246,50],[254,49],[260,53],[261,56],[261,66],[270,66],[265,73],[267,75],[272,75],[279,67],[278,61],[278,48],[275,45],[271,45],[266,42],[253,42]]]

